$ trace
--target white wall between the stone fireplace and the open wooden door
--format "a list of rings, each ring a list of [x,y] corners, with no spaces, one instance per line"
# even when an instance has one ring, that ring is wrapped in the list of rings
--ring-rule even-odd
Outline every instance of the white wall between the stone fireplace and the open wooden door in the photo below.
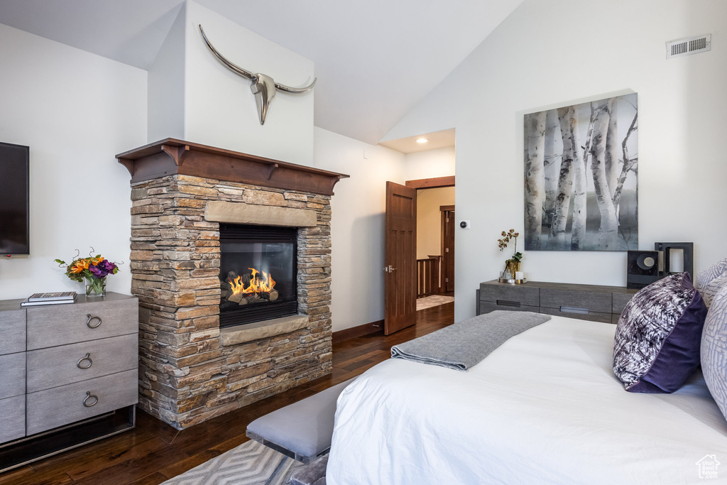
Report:
[[[331,309],[338,332],[384,318],[386,182],[404,182],[404,156],[321,128],[315,134],[316,167],[350,175],[336,184],[331,202]]]

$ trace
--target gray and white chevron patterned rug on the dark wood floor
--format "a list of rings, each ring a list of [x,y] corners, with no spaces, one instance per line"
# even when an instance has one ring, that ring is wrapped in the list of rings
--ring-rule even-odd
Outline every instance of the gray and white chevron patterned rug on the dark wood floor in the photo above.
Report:
[[[162,485],[284,485],[302,465],[250,440]]]

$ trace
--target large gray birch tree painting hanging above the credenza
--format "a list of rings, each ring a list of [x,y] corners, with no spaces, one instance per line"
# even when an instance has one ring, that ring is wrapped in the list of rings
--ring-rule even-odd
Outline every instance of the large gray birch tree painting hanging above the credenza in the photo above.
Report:
[[[525,249],[638,249],[636,98],[525,115]]]

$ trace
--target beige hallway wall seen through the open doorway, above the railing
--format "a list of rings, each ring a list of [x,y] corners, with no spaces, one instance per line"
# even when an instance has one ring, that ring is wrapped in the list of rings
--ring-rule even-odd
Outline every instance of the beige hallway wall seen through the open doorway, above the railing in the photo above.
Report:
[[[442,252],[441,206],[454,205],[454,187],[425,188],[417,191],[417,259]]]

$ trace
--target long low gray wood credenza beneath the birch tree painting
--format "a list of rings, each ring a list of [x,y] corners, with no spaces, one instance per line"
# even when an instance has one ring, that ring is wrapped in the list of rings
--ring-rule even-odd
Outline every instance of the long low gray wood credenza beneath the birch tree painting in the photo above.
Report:
[[[493,310],[534,311],[616,324],[626,303],[637,291],[624,286],[485,281],[478,289],[477,314]]]

